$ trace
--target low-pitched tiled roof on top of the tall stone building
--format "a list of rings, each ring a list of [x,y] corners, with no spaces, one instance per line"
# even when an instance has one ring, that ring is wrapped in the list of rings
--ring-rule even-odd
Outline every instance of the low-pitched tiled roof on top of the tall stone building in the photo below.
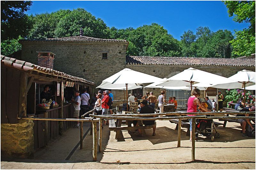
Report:
[[[114,40],[114,39],[102,39],[93,38],[87,36],[74,36],[74,37],[64,37],[64,38],[46,38],[46,39],[33,39],[33,40],[20,40],[20,42],[27,41],[61,41],[61,42],[114,42],[114,43],[128,43],[127,40]]]

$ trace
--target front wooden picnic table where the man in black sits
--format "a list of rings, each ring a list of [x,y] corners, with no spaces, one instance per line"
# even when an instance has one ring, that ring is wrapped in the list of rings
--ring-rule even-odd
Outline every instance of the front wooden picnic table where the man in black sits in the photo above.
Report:
[[[132,112],[130,112],[132,113]],[[125,114],[125,112],[119,113],[116,112],[116,114]],[[136,113],[135,113],[136,114]],[[128,133],[130,130],[137,130],[137,129],[141,129],[142,135],[146,135],[145,129],[151,129],[153,128],[155,125],[143,125],[141,120],[138,120],[138,123],[140,126],[132,126],[132,122],[133,120],[122,120],[122,119],[117,119],[115,121],[115,119],[110,119],[109,120],[109,130],[111,131],[115,131],[116,132],[116,137],[115,139],[124,139],[124,135],[122,130],[128,130]],[[127,124],[127,126],[123,126],[121,127],[122,124]],[[130,134],[130,133],[129,133]]]

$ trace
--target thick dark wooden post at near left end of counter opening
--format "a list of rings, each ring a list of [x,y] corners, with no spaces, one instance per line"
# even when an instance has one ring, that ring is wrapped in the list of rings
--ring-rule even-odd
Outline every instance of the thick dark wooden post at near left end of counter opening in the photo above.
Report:
[[[27,115],[27,81],[28,75],[24,72],[20,73],[20,95],[19,95],[19,116]],[[4,99],[2,99],[4,100]]]

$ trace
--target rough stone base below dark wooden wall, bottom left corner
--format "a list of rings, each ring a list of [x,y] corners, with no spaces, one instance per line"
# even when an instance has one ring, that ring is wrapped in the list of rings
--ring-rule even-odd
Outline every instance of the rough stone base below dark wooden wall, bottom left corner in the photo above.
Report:
[[[19,120],[17,124],[1,124],[1,157],[28,158],[34,152],[34,122]]]

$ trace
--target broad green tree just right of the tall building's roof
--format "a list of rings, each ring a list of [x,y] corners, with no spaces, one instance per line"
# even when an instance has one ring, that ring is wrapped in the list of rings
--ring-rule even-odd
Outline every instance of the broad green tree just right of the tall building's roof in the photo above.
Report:
[[[119,31],[120,38],[127,39],[128,55],[137,56],[180,56],[180,42],[167,33],[164,27],[152,23],[137,29],[128,28]]]

